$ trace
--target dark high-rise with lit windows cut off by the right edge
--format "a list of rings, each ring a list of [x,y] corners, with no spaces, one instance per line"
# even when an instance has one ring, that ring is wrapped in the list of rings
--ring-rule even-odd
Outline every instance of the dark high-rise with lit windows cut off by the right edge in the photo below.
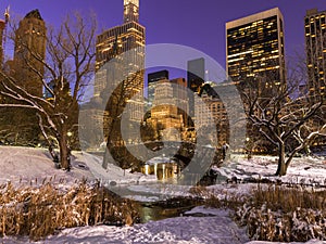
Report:
[[[309,92],[314,99],[326,98],[326,11],[306,11],[304,33]]]

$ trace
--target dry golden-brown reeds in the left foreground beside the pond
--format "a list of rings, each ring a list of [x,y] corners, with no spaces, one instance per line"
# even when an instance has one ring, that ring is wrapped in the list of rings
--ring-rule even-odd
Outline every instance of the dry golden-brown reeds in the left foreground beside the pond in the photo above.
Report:
[[[137,207],[104,188],[86,181],[64,192],[51,183],[40,188],[0,189],[0,236],[29,235],[39,240],[55,231],[88,224],[133,224]]]

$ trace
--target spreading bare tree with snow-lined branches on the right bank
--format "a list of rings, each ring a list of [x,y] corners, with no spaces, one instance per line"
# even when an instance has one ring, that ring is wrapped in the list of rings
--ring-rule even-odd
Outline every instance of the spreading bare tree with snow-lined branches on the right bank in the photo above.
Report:
[[[326,121],[321,120],[325,119],[321,116],[325,105],[323,99],[311,101],[309,94],[293,98],[299,84],[306,79],[305,69],[297,65],[288,70],[287,84],[265,76],[249,80],[241,88],[249,121],[277,147],[277,176],[287,174],[298,152],[311,145],[318,136],[326,136]],[[288,146],[290,144],[293,146]]]

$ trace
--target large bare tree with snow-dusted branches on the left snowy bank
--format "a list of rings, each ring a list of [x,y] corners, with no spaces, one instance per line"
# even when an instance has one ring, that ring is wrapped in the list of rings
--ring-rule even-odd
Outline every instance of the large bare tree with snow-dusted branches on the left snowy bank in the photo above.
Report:
[[[84,20],[79,14],[67,16],[59,29],[48,29],[46,59],[35,52],[28,43],[15,37],[16,25],[13,27],[13,40],[27,53],[24,65],[41,80],[51,99],[35,95],[21,86],[20,76],[11,72],[0,70],[1,94],[10,98],[11,103],[0,104],[2,107],[30,108],[37,113],[39,127],[49,142],[49,151],[55,157],[49,137],[53,136],[60,146],[60,163],[70,168],[68,132],[77,121],[78,101],[93,74],[95,36],[97,22],[95,16]],[[42,34],[40,34],[42,35]],[[20,41],[17,43],[17,40]],[[28,56],[28,59],[27,59]],[[45,68],[40,72],[36,65]],[[16,73],[20,70],[16,70]]]

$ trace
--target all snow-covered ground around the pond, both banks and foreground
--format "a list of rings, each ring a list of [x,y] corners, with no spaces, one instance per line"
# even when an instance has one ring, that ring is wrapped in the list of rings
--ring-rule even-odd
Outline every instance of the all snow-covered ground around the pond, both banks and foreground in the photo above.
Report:
[[[70,172],[55,170],[47,150],[0,146],[0,184],[8,181],[14,184],[38,184],[43,180],[57,182],[63,187],[75,180],[87,178],[90,181],[101,178],[103,183],[126,185],[128,191],[136,192],[136,200],[155,201],[156,195],[189,195],[190,187],[161,184],[153,177],[130,174],[114,165],[108,169],[101,167],[101,158],[75,152]],[[268,178],[290,183],[326,184],[325,158],[294,158],[286,177],[273,176],[276,171],[276,158],[256,156],[248,160],[243,156],[233,156],[231,160],[215,168],[221,181],[209,189],[216,194],[246,194],[254,184],[226,183],[225,179]],[[148,196],[146,193],[150,193]],[[201,217],[198,217],[201,214]],[[265,244],[268,242],[249,242],[246,231],[239,229],[228,217],[227,211],[205,209],[203,207],[185,213],[187,216],[160,221],[149,221],[134,227],[83,227],[66,229],[58,235],[49,236],[38,243],[250,243]],[[190,216],[188,216],[190,215]],[[0,239],[0,243],[26,243],[26,237]],[[309,244],[326,242],[310,241]]]

